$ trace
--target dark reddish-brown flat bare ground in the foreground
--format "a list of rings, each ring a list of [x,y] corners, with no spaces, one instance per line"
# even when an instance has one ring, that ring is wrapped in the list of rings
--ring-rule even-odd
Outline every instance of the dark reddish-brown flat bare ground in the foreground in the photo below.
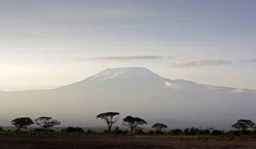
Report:
[[[214,139],[168,136],[0,136],[1,149],[256,148],[256,138]]]

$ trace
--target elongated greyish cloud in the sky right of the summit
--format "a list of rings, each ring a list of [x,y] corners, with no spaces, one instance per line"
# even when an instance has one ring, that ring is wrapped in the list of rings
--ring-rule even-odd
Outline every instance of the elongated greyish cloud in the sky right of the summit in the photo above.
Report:
[[[176,61],[174,65],[176,67],[202,67],[202,66],[213,66],[213,65],[227,65],[230,64],[230,60],[223,59],[212,59],[212,60],[194,60],[194,61]]]

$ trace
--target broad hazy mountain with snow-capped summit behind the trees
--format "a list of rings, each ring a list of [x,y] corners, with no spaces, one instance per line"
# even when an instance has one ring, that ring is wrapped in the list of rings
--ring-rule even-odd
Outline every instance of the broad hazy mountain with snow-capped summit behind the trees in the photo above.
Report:
[[[58,89],[0,92],[0,125],[18,116],[54,116],[64,126],[102,126],[95,115],[119,111],[173,127],[229,128],[255,120],[255,90],[167,79],[142,67],[104,70]]]

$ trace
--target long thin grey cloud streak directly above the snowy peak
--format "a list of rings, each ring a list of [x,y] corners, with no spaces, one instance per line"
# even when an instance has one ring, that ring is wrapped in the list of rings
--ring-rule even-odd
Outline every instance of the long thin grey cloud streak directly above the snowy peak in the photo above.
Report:
[[[107,57],[90,57],[85,60],[149,60],[149,59],[167,59],[171,57],[156,55],[135,55],[135,56],[107,56]]]

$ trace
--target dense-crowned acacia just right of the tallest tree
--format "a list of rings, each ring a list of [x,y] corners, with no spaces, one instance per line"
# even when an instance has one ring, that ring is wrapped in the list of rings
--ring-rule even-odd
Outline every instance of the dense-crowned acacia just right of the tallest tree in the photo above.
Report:
[[[133,133],[139,125],[144,124],[147,123],[142,118],[126,116],[126,118],[123,119],[123,126],[127,126],[130,129],[131,133]]]

